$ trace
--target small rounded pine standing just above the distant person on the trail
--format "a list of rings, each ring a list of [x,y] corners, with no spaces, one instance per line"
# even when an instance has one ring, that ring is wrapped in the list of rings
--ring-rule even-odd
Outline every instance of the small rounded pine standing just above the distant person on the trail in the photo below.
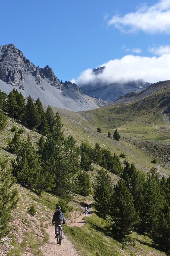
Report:
[[[91,182],[89,174],[86,171],[80,171],[77,175],[78,193],[82,196],[89,196],[91,191]]]

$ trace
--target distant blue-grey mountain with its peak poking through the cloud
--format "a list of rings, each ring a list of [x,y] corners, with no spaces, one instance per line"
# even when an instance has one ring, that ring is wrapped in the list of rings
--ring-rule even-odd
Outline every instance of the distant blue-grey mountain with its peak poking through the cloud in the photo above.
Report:
[[[88,84],[78,84],[81,90],[91,96],[96,98],[101,98],[105,101],[114,101],[120,96],[127,94],[132,91],[142,91],[149,86],[148,82],[143,79],[133,80],[129,82],[117,82],[117,83],[103,83],[100,79],[101,73],[106,70],[106,67],[100,67],[93,69],[93,74],[95,79],[93,82]]]

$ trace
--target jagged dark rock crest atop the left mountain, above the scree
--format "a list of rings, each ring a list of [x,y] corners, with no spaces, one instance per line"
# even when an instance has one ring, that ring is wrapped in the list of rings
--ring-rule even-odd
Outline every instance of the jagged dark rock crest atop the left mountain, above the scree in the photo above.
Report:
[[[48,78],[52,86],[61,90],[62,84],[49,66],[36,67],[14,44],[0,46],[0,79],[2,81],[20,87],[22,86],[21,82],[25,79],[25,74],[28,73],[36,77],[39,86],[42,86],[42,79]]]

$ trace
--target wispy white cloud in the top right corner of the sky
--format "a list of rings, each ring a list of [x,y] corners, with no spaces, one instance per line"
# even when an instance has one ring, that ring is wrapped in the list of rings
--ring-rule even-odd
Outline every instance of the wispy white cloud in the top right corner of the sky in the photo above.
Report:
[[[128,13],[122,17],[114,15],[108,21],[122,31],[135,32],[142,30],[147,33],[170,33],[170,1],[161,0],[148,7],[142,5],[136,12]]]

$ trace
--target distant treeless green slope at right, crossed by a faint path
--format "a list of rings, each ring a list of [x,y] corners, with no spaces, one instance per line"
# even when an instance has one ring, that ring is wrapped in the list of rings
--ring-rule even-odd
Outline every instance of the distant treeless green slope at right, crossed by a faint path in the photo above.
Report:
[[[162,126],[169,126],[168,115],[164,114],[169,103],[170,85],[167,85],[136,102],[106,106],[81,112],[81,115],[91,124],[100,125],[104,131],[119,127],[125,133],[144,134],[152,139],[151,134],[161,131]],[[159,139],[168,140],[168,135],[163,138],[159,136]]]

